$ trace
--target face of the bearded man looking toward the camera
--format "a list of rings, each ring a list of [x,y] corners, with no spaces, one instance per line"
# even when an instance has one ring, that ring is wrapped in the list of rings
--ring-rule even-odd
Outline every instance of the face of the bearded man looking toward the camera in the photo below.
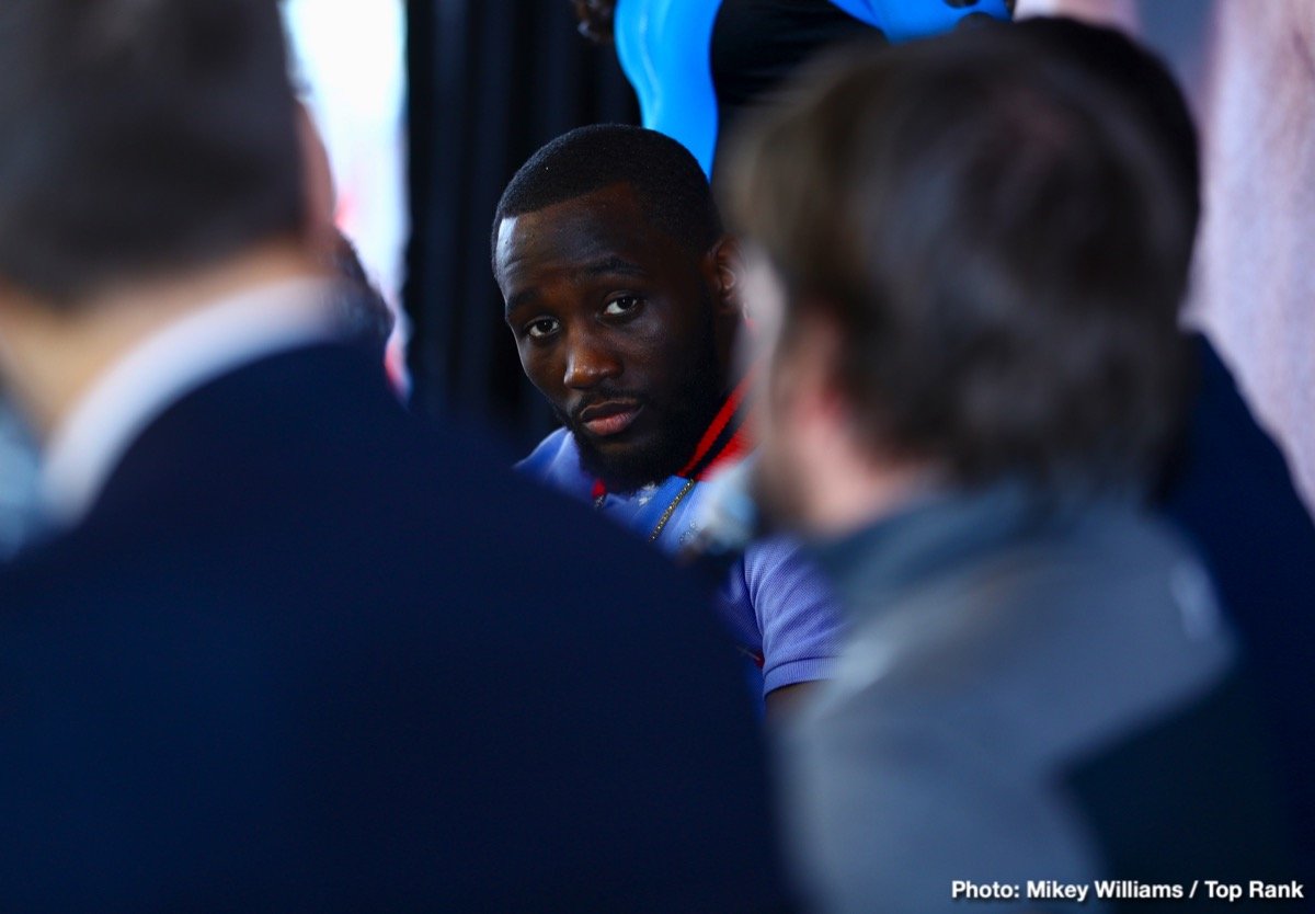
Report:
[[[521,366],[584,468],[615,492],[677,472],[726,389],[711,258],[615,184],[504,220],[494,259]]]

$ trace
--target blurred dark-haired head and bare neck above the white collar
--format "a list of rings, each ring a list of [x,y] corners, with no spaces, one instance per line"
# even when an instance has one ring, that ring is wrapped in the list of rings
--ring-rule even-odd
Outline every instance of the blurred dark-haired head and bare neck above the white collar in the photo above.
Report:
[[[0,373],[38,435],[176,321],[322,277],[277,4],[13,0],[0,57]]]

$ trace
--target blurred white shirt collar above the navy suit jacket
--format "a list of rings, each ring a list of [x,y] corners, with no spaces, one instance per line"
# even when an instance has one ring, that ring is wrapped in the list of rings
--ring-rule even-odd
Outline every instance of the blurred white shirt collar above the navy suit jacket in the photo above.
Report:
[[[330,280],[295,279],[205,305],[134,346],[83,393],[49,438],[41,472],[49,519],[91,509],[128,446],[171,404],[266,355],[333,335]]]

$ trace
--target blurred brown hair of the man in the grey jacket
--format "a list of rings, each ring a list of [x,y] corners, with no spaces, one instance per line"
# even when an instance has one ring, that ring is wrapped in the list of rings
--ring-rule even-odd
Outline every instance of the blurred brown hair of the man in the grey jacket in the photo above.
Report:
[[[736,228],[786,283],[782,345],[806,314],[838,326],[869,454],[964,484],[1155,472],[1184,400],[1195,139],[1176,89],[1135,95],[1044,28],[1001,25],[851,49],[751,129]],[[1190,139],[1161,132],[1165,108]]]

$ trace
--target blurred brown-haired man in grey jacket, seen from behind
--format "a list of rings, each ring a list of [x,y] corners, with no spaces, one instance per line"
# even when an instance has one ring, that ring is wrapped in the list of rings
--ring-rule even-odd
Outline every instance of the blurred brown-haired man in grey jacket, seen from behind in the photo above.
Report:
[[[815,76],[731,180],[760,484],[853,625],[782,746],[814,900],[1291,878],[1208,577],[1140,506],[1180,422],[1195,231],[1161,128],[1028,30]]]

